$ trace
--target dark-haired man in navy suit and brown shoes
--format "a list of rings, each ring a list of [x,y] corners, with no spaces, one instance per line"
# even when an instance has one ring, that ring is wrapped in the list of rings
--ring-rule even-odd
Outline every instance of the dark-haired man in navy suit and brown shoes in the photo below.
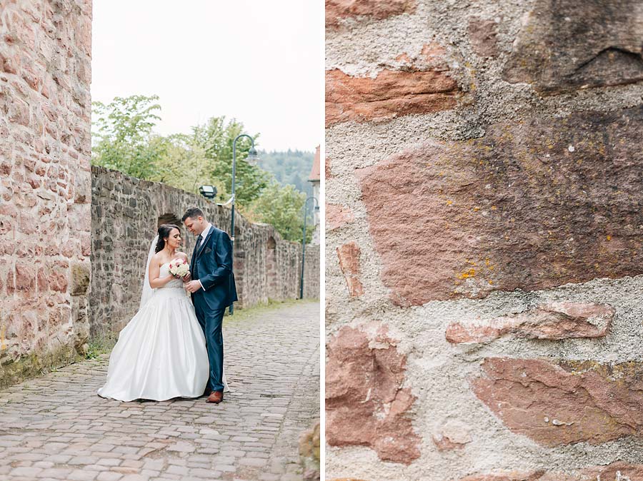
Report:
[[[196,236],[186,290],[192,294],[196,318],[206,338],[210,379],[208,402],[223,400],[223,334],[221,323],[226,308],[236,300],[232,273],[232,243],[228,234],[212,226],[199,208],[190,208],[181,218]]]

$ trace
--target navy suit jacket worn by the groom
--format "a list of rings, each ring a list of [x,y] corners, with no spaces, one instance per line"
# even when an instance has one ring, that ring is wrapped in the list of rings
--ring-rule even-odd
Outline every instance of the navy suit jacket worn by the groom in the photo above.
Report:
[[[221,309],[237,300],[232,242],[227,233],[211,226],[205,241],[194,248],[190,274],[203,285],[203,289],[192,293],[193,303],[204,302],[208,309]]]

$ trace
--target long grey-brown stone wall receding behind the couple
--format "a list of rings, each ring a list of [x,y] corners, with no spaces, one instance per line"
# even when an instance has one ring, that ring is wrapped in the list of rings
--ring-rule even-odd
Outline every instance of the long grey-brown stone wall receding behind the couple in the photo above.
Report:
[[[92,336],[113,336],[139,308],[141,286],[159,218],[175,218],[198,206],[216,227],[229,233],[231,211],[201,196],[117,171],[91,167]],[[181,227],[183,227],[181,225]],[[301,244],[284,241],[272,226],[235,219],[234,276],[239,302],[248,308],[299,297]],[[191,256],[195,238],[182,230]],[[304,297],[319,298],[319,246],[306,246]]]

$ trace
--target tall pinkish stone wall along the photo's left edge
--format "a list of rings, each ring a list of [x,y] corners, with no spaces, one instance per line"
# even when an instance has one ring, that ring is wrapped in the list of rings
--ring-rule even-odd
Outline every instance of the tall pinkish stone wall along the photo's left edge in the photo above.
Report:
[[[89,335],[91,1],[0,2],[0,387]]]

